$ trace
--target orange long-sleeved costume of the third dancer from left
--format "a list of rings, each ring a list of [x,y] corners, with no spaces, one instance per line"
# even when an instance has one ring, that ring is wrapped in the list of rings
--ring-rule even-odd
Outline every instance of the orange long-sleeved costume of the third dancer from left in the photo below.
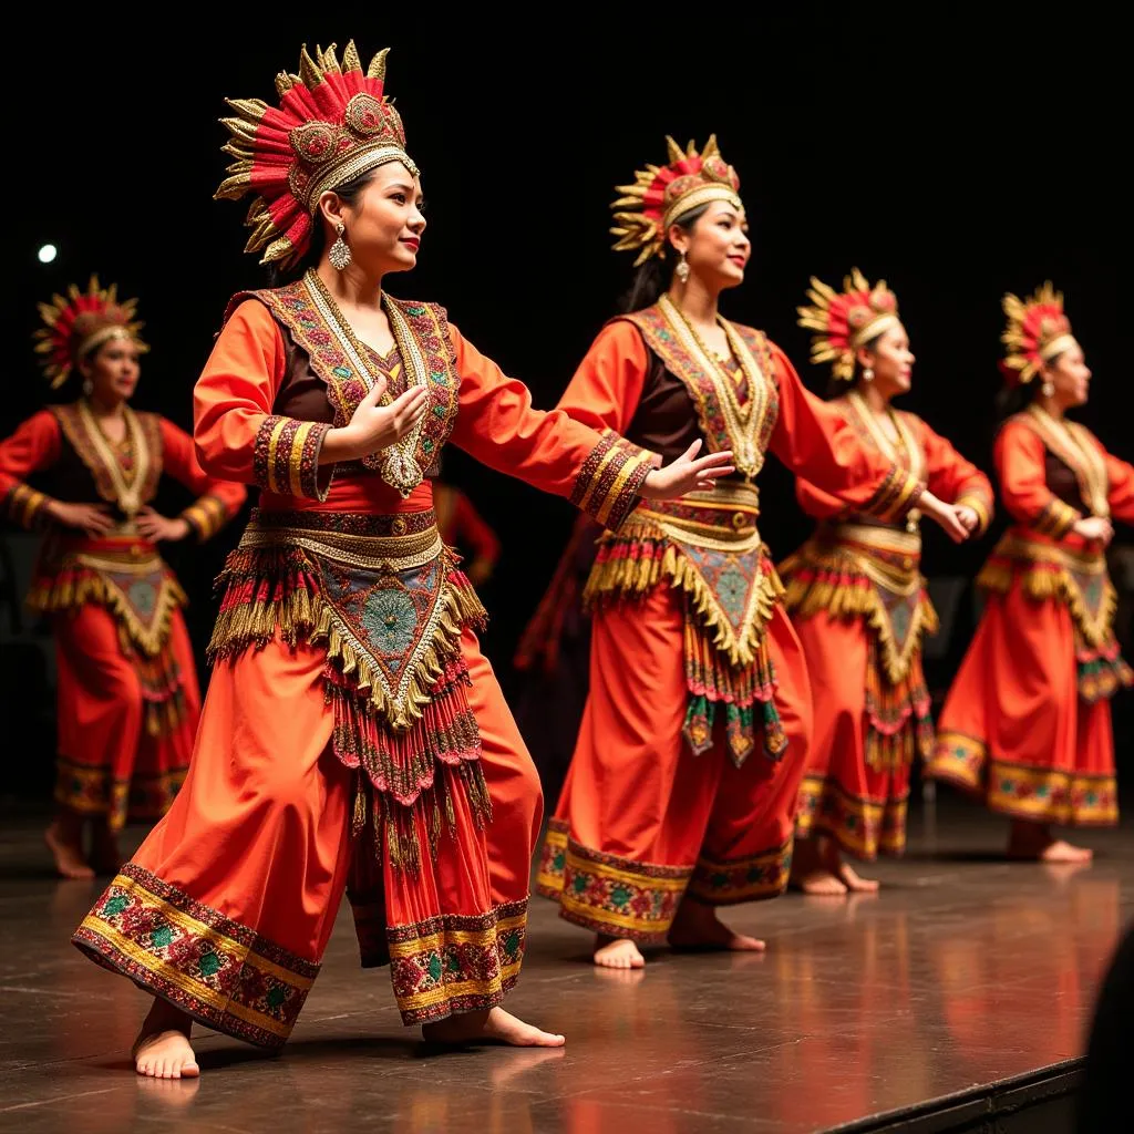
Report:
[[[678,320],[663,299],[610,323],[560,401],[663,456],[696,437],[733,448],[743,473],[640,505],[603,538],[586,587],[590,694],[539,888],[568,921],[640,941],[667,933],[683,896],[739,903],[787,883],[812,710],[756,530],[765,451],[872,515],[903,516],[920,494],[759,331],[728,324],[731,401]]]

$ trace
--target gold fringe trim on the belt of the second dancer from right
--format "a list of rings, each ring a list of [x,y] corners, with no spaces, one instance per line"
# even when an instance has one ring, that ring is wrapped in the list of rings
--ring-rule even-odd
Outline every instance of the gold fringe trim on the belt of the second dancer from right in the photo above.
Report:
[[[885,569],[894,575],[891,565],[873,564],[865,556],[845,548],[821,547],[814,540],[805,543],[795,555],[779,565],[780,575],[787,579],[785,607],[796,618],[811,618],[827,611],[832,618],[863,618],[874,632],[881,648],[880,661],[887,680],[898,685],[909,675],[909,667],[922,648],[925,635],[940,628],[937,611],[924,593],[921,575],[916,572],[905,585],[915,585],[922,593],[913,612],[913,626],[905,648],[898,644],[894,627],[878,587],[882,584],[870,570]],[[815,576],[819,576],[818,578]],[[826,576],[831,576],[830,578]]]

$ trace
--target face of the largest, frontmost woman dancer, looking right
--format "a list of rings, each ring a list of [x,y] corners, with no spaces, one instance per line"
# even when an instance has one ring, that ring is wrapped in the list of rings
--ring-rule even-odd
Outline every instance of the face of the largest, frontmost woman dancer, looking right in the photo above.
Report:
[[[341,220],[350,257],[367,277],[409,271],[417,263],[425,231],[422,186],[401,162],[379,166],[355,205],[327,193],[321,206],[330,225],[328,244],[335,239],[336,221]]]

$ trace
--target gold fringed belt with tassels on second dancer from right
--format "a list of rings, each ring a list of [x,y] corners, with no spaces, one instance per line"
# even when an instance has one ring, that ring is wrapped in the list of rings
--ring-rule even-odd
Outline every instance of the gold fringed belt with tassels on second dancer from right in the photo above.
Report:
[[[921,666],[937,611],[921,575],[921,536],[878,524],[821,524],[780,564],[788,611],[811,618],[861,618],[869,628],[865,675],[866,761],[908,764],[933,743],[930,696]]]

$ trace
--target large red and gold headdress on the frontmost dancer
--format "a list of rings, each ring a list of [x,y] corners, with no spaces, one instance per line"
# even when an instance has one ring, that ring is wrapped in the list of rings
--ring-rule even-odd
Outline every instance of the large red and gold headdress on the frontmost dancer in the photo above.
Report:
[[[260,99],[227,99],[236,118],[221,121],[232,135],[223,146],[236,160],[214,194],[237,201],[257,194],[245,223],[252,236],[245,252],[263,252],[261,263],[298,260],[311,244],[319,197],[376,166],[400,161],[416,176],[406,154],[401,118],[383,94],[386,57],[380,51],[364,71],[353,42],[335,57],[306,45],[299,74],[276,76],[279,108]]]

